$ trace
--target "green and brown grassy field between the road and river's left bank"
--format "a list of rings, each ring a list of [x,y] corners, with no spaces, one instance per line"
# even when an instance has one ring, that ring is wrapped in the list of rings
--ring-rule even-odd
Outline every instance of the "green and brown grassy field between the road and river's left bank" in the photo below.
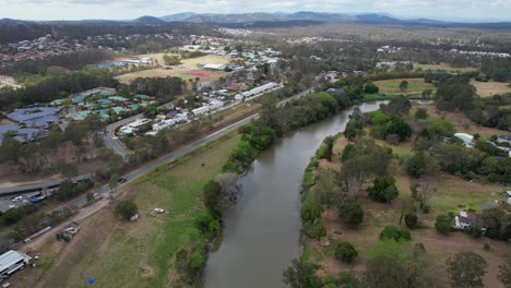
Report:
[[[142,178],[128,192],[141,220],[121,221],[111,209],[92,216],[38,287],[87,287],[90,278],[99,287],[174,287],[176,251],[200,237],[193,217],[204,208],[202,188],[222,172],[238,141],[229,134]],[[151,216],[156,207],[167,213]]]

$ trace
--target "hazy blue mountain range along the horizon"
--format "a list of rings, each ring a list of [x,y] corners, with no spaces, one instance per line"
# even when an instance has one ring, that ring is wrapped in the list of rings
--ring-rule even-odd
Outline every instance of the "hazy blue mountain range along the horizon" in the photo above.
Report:
[[[84,21],[21,21],[12,19],[1,19],[0,24],[143,24],[143,25],[165,25],[173,22],[188,23],[207,23],[227,26],[286,26],[286,25],[316,25],[321,23],[355,23],[355,24],[383,24],[383,25],[432,25],[432,26],[473,26],[488,28],[511,28],[511,22],[463,22],[463,21],[438,21],[430,19],[399,19],[390,14],[347,14],[347,13],[321,13],[311,11],[300,11],[296,13],[240,13],[240,14],[219,14],[219,13],[193,13],[183,12],[170,14],[162,17],[145,15],[135,20],[115,21],[115,20],[84,20]]]

